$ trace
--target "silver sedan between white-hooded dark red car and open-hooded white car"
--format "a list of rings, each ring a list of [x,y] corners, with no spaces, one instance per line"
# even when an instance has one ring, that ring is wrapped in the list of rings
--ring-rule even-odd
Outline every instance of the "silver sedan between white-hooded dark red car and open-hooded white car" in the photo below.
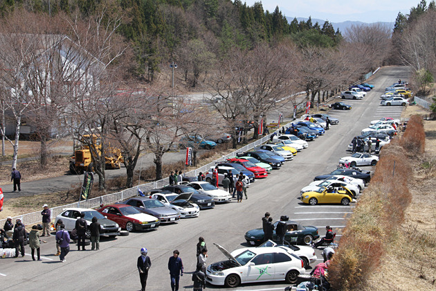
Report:
[[[133,197],[122,204],[135,206],[139,211],[153,215],[161,220],[161,223],[172,223],[180,220],[180,213],[169,206],[165,206],[157,199],[149,197]]]

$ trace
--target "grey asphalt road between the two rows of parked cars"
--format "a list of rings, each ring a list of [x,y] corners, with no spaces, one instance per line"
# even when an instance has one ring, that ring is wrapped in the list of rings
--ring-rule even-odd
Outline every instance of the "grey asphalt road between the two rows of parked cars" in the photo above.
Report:
[[[300,189],[309,184],[314,176],[336,168],[338,159],[349,154],[345,150],[352,137],[367,127],[370,121],[383,116],[399,118],[403,108],[380,107],[379,96],[398,78],[407,80],[408,76],[409,71],[404,67],[381,69],[370,80],[376,88],[368,92],[363,100],[345,101],[352,105],[351,111],[329,112],[340,119],[339,125],[332,125],[325,136],[310,142],[309,148],[299,152],[282,169],[274,170],[270,177],[251,184],[248,200],[218,204],[215,209],[201,211],[199,218],[163,225],[156,231],[130,233],[115,239],[103,238],[98,252],[77,252],[76,246],[71,245],[72,251],[66,256],[66,263],[60,263],[59,258],[53,255],[55,238],[51,236],[46,238],[47,243],[42,244],[42,262],[31,261],[28,255],[1,260],[0,290],[50,290],[59,285],[63,290],[140,290],[136,258],[141,247],[147,247],[152,260],[147,290],[170,290],[167,261],[174,249],[179,249],[185,267],[180,290],[192,290],[190,274],[195,269],[195,246],[199,236],[203,236],[208,245],[208,263],[224,260],[224,255],[212,243],[222,245],[229,252],[245,247],[244,233],[261,227],[261,218],[266,211],[274,220],[285,214],[303,225],[314,225],[320,229],[322,236],[325,225],[329,224],[338,233],[336,238],[339,239],[347,216],[353,211],[353,204],[305,206],[296,198]],[[26,252],[30,253],[28,247]],[[316,254],[322,258],[320,251],[317,250]],[[254,283],[233,290],[283,290],[286,286],[284,282]],[[224,290],[212,285],[208,285],[208,289]]]

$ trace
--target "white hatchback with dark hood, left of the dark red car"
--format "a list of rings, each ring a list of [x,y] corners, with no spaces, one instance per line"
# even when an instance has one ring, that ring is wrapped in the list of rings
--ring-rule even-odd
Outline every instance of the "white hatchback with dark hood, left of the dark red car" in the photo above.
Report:
[[[65,230],[73,231],[73,229],[75,229],[75,221],[80,218],[81,213],[84,213],[84,220],[87,220],[88,226],[91,224],[92,218],[97,218],[97,221],[100,223],[100,236],[110,236],[114,238],[115,236],[120,235],[121,227],[118,223],[105,218],[102,213],[95,209],[67,208],[64,209],[60,215],[56,216],[56,221],[62,219],[62,222],[65,225]],[[91,238],[91,229],[88,228],[85,236]]]

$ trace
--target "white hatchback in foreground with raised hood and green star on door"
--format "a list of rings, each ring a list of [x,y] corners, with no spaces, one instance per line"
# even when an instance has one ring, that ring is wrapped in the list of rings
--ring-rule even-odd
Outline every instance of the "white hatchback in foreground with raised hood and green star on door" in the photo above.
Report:
[[[305,274],[304,262],[291,250],[281,247],[248,247],[231,254],[217,245],[228,258],[206,269],[206,281],[212,285],[235,288],[241,283],[286,281],[293,284]]]

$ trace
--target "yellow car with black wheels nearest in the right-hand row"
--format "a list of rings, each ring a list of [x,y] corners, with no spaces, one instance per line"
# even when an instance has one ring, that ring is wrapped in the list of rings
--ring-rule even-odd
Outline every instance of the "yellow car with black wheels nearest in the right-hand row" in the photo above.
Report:
[[[348,205],[352,202],[353,194],[345,187],[320,187],[317,191],[302,193],[301,201],[306,204],[316,205],[318,203],[339,203]]]

